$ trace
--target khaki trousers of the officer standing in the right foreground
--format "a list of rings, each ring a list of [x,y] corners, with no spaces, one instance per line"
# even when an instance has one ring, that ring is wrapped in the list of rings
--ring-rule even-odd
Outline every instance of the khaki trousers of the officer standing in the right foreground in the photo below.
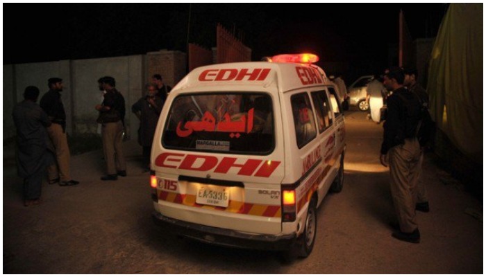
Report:
[[[412,233],[418,228],[415,204],[420,153],[419,141],[416,138],[405,139],[403,145],[396,145],[388,151],[390,190],[400,229],[404,233]]]

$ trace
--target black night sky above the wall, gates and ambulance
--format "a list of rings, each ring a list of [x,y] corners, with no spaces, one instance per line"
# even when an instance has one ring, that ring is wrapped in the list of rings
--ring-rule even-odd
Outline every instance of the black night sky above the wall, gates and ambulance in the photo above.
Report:
[[[385,68],[388,46],[398,42],[400,9],[415,39],[435,37],[447,5],[3,3],[3,64],[185,52],[190,9],[189,42],[208,48],[221,23],[252,48],[253,60],[305,51]]]

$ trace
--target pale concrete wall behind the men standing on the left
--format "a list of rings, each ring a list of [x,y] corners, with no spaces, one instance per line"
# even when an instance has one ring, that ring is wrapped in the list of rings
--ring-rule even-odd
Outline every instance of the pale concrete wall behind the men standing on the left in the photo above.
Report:
[[[144,84],[151,81],[153,73],[148,69],[161,73],[167,84],[174,86],[186,73],[185,57],[179,51],[159,51],[148,55],[3,65],[3,139],[15,136],[12,109],[24,99],[24,89],[29,85],[39,87],[42,97],[49,90],[47,80],[52,77],[62,78],[64,84],[61,95],[67,132],[96,134],[98,111],[94,106],[103,100],[97,81],[106,75],[115,78],[116,87],[125,98],[126,135],[128,139],[137,139],[139,123],[131,106],[144,95]],[[153,62],[153,67],[148,67],[147,61]]]

